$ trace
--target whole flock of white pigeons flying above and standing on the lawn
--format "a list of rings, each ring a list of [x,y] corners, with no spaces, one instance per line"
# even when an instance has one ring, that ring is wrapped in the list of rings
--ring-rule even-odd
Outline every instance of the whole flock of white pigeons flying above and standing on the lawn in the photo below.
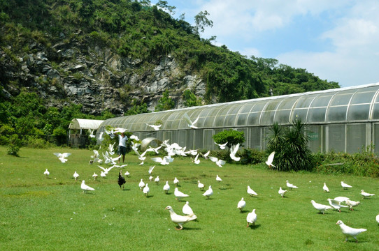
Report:
[[[187,114],[185,114],[184,117],[188,123],[188,126],[190,128],[196,128],[196,126],[194,126],[194,124],[199,119],[199,117],[197,117],[196,120],[192,122],[190,120],[190,117],[186,116],[186,115]],[[148,125],[148,126],[153,128],[154,130],[159,130],[161,125],[159,125],[159,126]],[[122,129],[122,128],[116,128],[116,129]],[[131,138],[136,139],[136,141],[139,140],[138,137],[136,137],[135,135],[132,135]],[[217,143],[215,143],[215,144],[217,144]],[[167,155],[165,155],[164,158],[160,158],[160,157],[151,158],[152,161],[157,162],[160,165],[169,165],[171,162],[173,162],[173,160],[174,160],[173,157],[175,155],[183,155],[183,156],[192,155],[192,156],[195,156],[194,159],[192,159],[192,158],[191,159],[192,159],[192,162],[194,162],[194,164],[196,164],[196,165],[198,165],[200,163],[199,155],[201,155],[204,159],[209,159],[209,160],[215,162],[215,164],[218,167],[222,167],[225,164],[224,160],[220,160],[220,159],[217,159],[213,156],[209,156],[210,151],[208,151],[205,154],[197,153],[196,150],[186,151],[185,147],[181,147],[176,143],[169,144],[169,140],[164,141],[157,148],[152,148],[151,146],[149,146],[149,148],[146,151],[144,151],[143,153],[138,152],[138,146],[139,145],[140,144],[138,144],[138,143],[132,142],[132,149],[134,150],[134,152],[138,156],[138,159],[141,160],[141,163],[139,165],[144,164],[144,160],[146,158],[145,154],[147,152],[151,151],[151,152],[159,153],[159,149],[161,149],[161,148],[164,149],[164,151],[166,151]],[[217,144],[217,145],[220,147],[220,149],[225,149],[227,144]],[[232,160],[235,160],[235,161],[240,160],[240,158],[236,157],[238,147],[239,147],[239,144],[237,144],[236,146],[231,146],[230,158]],[[105,153],[102,153],[103,159],[100,158],[99,151],[94,150],[94,155],[91,156],[90,164],[104,163],[104,164],[111,165],[110,167],[107,167],[107,168],[101,167],[100,165],[98,165],[98,167],[101,169],[101,174],[100,174],[101,177],[106,177],[108,172],[110,172],[110,170],[113,169],[114,167],[122,168],[122,167],[127,166],[127,165],[117,165],[116,161],[120,159],[120,156],[113,158],[112,155],[114,155],[114,154],[115,154],[114,144],[113,145],[110,144],[108,146],[107,151]],[[54,155],[56,155],[62,163],[65,163],[67,161],[67,157],[69,157],[69,155],[71,155],[71,153],[54,153]],[[273,165],[274,156],[275,156],[275,152],[271,153],[269,155],[269,158],[266,161],[266,165],[268,165],[269,167],[275,167]],[[150,174],[149,180],[152,181],[154,179],[154,182],[158,185],[159,181],[160,181],[159,176],[157,176],[156,178],[151,176],[154,168],[155,168],[155,166],[149,167],[149,170],[148,170],[148,173]],[[48,176],[50,175],[50,172],[48,171],[48,169],[45,170],[44,174],[48,178]],[[124,176],[129,176],[129,172],[126,171],[124,173]],[[118,185],[120,185],[121,189],[124,188],[124,184],[126,183],[124,176],[122,176],[122,171],[120,170],[120,172],[118,174],[118,178],[117,178],[117,183],[118,183]],[[75,172],[73,174],[73,178],[75,178],[75,180],[77,180],[78,177],[79,177],[79,174],[77,172]],[[92,177],[96,180],[96,178],[97,178],[96,172],[92,175]],[[220,176],[217,175],[216,181],[221,182],[222,178],[220,178]],[[178,183],[179,183],[178,178],[175,177],[175,179],[173,180],[173,184],[176,185],[176,188],[174,189],[174,196],[176,197],[176,199],[178,201],[180,201],[183,198],[189,197],[189,195],[178,190],[178,187],[177,187]],[[203,191],[205,185],[203,183],[201,183],[200,181],[197,181],[197,183],[198,183],[198,185],[197,185],[198,188],[201,191]],[[296,185],[289,183],[289,181],[286,181],[286,186],[289,190],[298,189],[298,187]],[[348,184],[344,183],[343,181],[341,181],[341,186],[343,189],[352,188],[351,185],[348,185]],[[138,187],[143,192],[145,197],[148,197],[148,194],[150,192],[150,188],[148,186],[148,183],[145,183],[143,181],[143,179],[141,178],[140,183],[138,183]],[[83,192],[94,191],[94,188],[91,188],[90,186],[86,185],[84,180],[82,181],[80,188],[83,190]],[[164,185],[163,190],[166,194],[168,194],[168,192],[170,190],[169,181],[166,181],[166,184]],[[324,190],[324,192],[329,192],[329,188],[327,188],[326,183],[324,183],[323,190]],[[247,192],[248,192],[248,195],[250,195],[251,197],[252,196],[258,196],[257,192],[252,190],[252,188],[250,188],[249,185],[247,187]],[[280,187],[278,190],[278,194],[281,197],[285,197],[286,192],[287,192],[287,190],[283,190],[282,187]],[[213,195],[212,185],[209,185],[208,189],[205,192],[203,192],[202,195],[204,197],[206,197],[206,199],[209,199],[210,196]],[[366,197],[372,197],[374,194],[370,194],[368,192],[364,192],[364,190],[361,190],[361,195],[363,198],[366,198]],[[327,201],[329,201],[329,205],[319,204],[319,203],[315,202],[314,200],[312,200],[310,202],[317,211],[319,211],[320,213],[323,213],[323,214],[328,209],[336,209],[339,212],[341,212],[341,208],[350,208],[350,210],[353,211],[354,210],[353,207],[358,206],[360,204],[359,201],[350,200],[348,197],[336,197],[334,199],[327,199]],[[242,197],[241,201],[238,201],[237,208],[242,212],[243,208],[245,208],[245,206],[246,206],[246,201]],[[183,209],[182,209],[182,211],[185,215],[178,215],[177,213],[175,213],[175,211],[173,211],[173,208],[171,206],[166,206],[166,210],[169,211],[170,216],[171,216],[171,220],[178,225],[178,228],[176,228],[177,230],[183,229],[183,225],[185,223],[190,222],[192,220],[196,220],[196,218],[197,218],[197,216],[194,214],[194,211],[192,211],[192,208],[190,207],[188,201],[186,201],[186,204],[183,206]],[[248,215],[246,217],[247,227],[249,227],[250,224],[254,226],[256,221],[257,221],[257,214],[255,213],[255,209],[253,209],[252,212],[248,213]],[[379,215],[376,216],[376,221],[379,223]],[[357,241],[357,235],[366,231],[366,229],[355,229],[352,227],[348,227],[341,220],[338,220],[338,222],[336,222],[336,225],[339,225],[341,227],[341,231],[343,232],[343,234],[345,234],[345,236],[346,236],[345,241],[348,240],[348,236],[355,238],[355,240]]]

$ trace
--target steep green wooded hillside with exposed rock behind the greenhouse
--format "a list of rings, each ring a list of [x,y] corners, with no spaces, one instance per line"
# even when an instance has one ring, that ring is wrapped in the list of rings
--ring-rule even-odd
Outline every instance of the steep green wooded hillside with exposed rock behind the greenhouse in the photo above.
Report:
[[[44,107],[43,120],[68,109],[102,118],[153,111],[165,91],[176,108],[339,87],[212,45],[150,1],[1,1],[0,33],[0,118],[8,125],[31,112],[15,111],[25,96]]]

